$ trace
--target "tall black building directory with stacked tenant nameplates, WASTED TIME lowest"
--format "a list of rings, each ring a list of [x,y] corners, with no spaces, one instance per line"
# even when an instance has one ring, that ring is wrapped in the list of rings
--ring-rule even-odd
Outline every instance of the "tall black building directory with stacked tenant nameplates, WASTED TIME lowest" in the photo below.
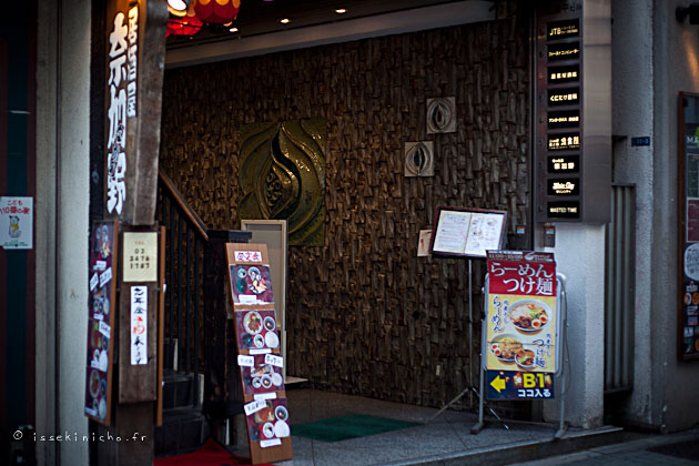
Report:
[[[599,27],[599,17],[609,14],[604,3],[537,3],[535,197],[539,222],[609,220],[611,61],[610,32]],[[587,74],[585,63],[594,64]],[[585,114],[594,118],[586,121]]]

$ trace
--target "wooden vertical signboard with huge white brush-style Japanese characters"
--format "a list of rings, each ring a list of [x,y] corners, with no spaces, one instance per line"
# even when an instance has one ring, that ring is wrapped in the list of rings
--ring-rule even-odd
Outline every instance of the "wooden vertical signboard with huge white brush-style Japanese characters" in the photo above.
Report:
[[[166,21],[162,1],[112,0],[107,8],[105,212],[131,225],[154,221]]]

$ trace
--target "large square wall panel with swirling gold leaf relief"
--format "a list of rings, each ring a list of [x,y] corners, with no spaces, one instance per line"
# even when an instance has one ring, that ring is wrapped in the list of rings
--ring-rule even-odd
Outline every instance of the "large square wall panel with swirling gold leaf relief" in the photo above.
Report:
[[[241,128],[240,219],[286,220],[288,244],[325,241],[324,119]]]

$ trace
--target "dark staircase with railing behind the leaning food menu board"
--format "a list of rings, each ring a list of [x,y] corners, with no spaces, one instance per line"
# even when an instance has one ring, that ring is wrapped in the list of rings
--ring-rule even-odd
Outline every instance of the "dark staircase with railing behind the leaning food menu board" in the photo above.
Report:
[[[242,394],[226,311],[224,244],[246,243],[251,233],[209,230],[162,171],[158,220],[166,230],[166,288],[163,422],[155,427],[155,456],[193,452],[210,435],[236,447],[244,432],[226,428],[242,413]]]

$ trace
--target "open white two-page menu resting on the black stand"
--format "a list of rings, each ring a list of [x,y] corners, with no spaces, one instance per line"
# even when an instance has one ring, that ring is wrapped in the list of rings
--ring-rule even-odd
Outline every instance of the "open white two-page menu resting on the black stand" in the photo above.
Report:
[[[505,211],[437,207],[429,252],[485,257],[486,251],[502,247],[506,217]]]

